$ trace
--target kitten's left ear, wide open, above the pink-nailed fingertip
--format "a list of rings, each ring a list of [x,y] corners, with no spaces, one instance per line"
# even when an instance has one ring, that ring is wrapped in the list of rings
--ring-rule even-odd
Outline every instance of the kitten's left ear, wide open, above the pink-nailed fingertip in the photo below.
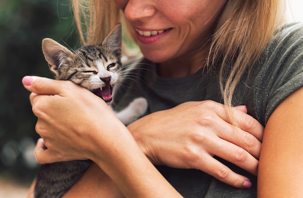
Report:
[[[58,78],[58,68],[65,58],[73,56],[73,52],[50,38],[43,39],[42,51],[55,78]]]

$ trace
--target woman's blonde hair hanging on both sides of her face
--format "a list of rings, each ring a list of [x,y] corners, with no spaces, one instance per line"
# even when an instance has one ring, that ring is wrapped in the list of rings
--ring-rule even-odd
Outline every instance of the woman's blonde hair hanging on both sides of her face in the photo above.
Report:
[[[72,1],[84,45],[99,43],[117,23],[122,23],[123,30],[130,30],[113,0]],[[229,115],[236,85],[284,22],[284,7],[282,0],[227,0],[212,36],[207,66],[219,71],[220,88]],[[125,32],[123,38],[132,39]]]

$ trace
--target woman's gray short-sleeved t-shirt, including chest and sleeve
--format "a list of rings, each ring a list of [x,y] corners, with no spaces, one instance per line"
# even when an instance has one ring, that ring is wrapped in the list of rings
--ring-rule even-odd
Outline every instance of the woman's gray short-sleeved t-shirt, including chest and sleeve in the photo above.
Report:
[[[275,107],[289,94],[303,87],[303,24],[281,27],[253,66],[249,80],[247,74],[248,71],[243,74],[235,91],[235,105],[246,105],[248,114],[265,125]],[[188,101],[213,100],[222,103],[214,73],[199,71],[183,78],[162,78],[157,76],[155,63],[142,60],[131,76],[132,79],[124,82],[115,97],[118,110],[137,97],[148,100],[146,115]],[[156,168],[185,198],[256,197],[255,176],[223,159],[215,158],[248,177],[253,187],[234,188],[196,169]]]

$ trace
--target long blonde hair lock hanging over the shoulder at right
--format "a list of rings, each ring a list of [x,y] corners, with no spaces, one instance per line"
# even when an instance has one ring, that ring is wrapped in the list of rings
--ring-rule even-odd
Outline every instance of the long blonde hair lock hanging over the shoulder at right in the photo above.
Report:
[[[258,60],[285,21],[283,0],[227,0],[212,36],[208,66],[219,72],[224,104],[233,124],[232,96],[243,72]]]

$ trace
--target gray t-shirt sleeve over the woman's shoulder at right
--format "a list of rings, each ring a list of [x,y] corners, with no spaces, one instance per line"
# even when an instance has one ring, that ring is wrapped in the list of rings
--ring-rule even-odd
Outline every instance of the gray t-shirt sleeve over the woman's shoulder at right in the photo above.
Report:
[[[257,117],[264,125],[286,97],[303,87],[303,24],[282,28],[267,46],[265,57],[253,83]]]

